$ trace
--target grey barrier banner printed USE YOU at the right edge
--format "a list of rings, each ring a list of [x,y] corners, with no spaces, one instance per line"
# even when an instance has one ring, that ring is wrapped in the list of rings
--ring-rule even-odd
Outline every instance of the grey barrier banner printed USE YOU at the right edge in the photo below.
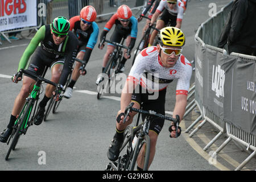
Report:
[[[226,73],[225,120],[256,135],[256,64],[253,60],[236,59]]]

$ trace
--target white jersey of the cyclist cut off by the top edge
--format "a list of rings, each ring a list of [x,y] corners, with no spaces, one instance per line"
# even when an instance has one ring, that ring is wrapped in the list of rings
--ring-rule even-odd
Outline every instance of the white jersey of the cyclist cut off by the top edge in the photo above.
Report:
[[[177,21],[181,22],[182,19],[183,19],[183,13],[184,13],[184,10],[185,10],[185,5],[184,5],[184,2],[181,1],[181,0],[177,0],[177,3],[176,3],[176,6],[174,7],[174,9],[170,9],[169,6],[168,6],[168,2],[166,0],[162,0],[160,1],[159,5],[158,5],[158,8],[156,9],[156,11],[158,11],[158,13],[162,13],[162,11],[164,9],[167,9],[168,12],[171,14],[171,15],[177,15]]]

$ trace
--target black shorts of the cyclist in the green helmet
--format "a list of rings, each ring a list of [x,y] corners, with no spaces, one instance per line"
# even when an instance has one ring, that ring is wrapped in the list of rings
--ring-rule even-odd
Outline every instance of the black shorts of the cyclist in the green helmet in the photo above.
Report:
[[[30,64],[27,67],[27,71],[34,73],[34,75],[43,76],[46,73],[47,68],[52,68],[55,64],[64,64],[64,58],[50,59],[44,53],[41,52],[40,47],[36,48],[34,54],[31,57]],[[26,75],[26,74],[24,74]],[[26,75],[31,77],[29,75]],[[33,78],[33,77],[31,77]],[[33,78],[35,80],[35,78]]]

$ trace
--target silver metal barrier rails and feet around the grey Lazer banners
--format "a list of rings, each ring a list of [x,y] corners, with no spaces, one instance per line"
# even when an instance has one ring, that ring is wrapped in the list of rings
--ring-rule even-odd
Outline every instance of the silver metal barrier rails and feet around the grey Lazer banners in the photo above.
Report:
[[[232,2],[230,2],[228,5],[226,5],[224,8],[221,9],[221,12],[217,13],[217,16],[221,17],[215,17],[215,18],[209,18],[206,22],[202,23],[201,26],[198,28],[196,32],[195,39],[201,44],[202,47],[206,47],[209,49],[213,49],[215,51],[221,52],[223,55],[227,55],[227,52],[225,49],[220,49],[216,46],[216,38],[218,38],[217,35],[220,33],[221,29],[217,28],[217,31],[214,31],[212,35],[212,32],[209,32],[209,30],[213,30],[214,28],[210,28],[213,26],[215,27],[214,22],[220,22],[219,24],[224,24],[225,19],[228,16],[228,13],[230,11],[230,8],[232,7]],[[213,20],[214,19],[214,20]],[[208,27],[208,31],[206,30]],[[212,39],[214,38],[214,40]],[[208,44],[211,44],[212,46],[209,46]],[[255,56],[249,56],[249,55],[242,55],[240,53],[231,53],[230,56],[237,56],[240,57],[242,60],[255,60]],[[196,61],[196,60],[195,60]],[[204,151],[208,150],[210,146],[218,139],[222,134],[225,134],[228,136],[228,139],[225,140],[224,143],[221,144],[220,147],[217,148],[215,152],[213,152],[212,157],[216,156],[231,140],[234,140],[235,142],[238,142],[242,144],[243,146],[247,147],[246,150],[253,150],[251,154],[235,169],[235,170],[241,170],[251,159],[253,159],[256,156],[256,135],[251,135],[249,133],[246,133],[244,130],[239,129],[238,127],[234,126],[232,123],[225,122],[224,119],[221,119],[218,117],[218,115],[214,114],[213,111],[210,111],[207,107],[202,106],[197,102],[193,100],[193,104],[196,104],[196,106],[199,108],[201,115],[193,122],[185,131],[188,133],[196,124],[203,119],[203,122],[200,123],[192,131],[192,133],[189,135],[189,137],[192,137],[195,135],[195,133],[206,123],[209,122],[213,127],[220,130],[220,132],[203,148]],[[191,105],[191,104],[189,104]],[[190,107],[190,106],[189,106]],[[201,107],[203,107],[203,110],[201,110]],[[188,109],[188,108],[187,108]],[[187,110],[191,111],[191,110]],[[187,113],[186,111],[186,113]]]

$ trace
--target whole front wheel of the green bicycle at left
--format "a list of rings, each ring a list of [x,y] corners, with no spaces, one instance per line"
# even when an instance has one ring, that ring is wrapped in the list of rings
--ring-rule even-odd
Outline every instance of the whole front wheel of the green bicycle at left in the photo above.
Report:
[[[26,127],[25,126],[26,122],[30,118],[30,114],[31,114],[31,110],[32,110],[33,106],[34,106],[33,101],[30,100],[30,101],[28,101],[28,104],[24,106],[24,107],[26,107],[26,109],[22,109],[22,110],[24,110],[24,112],[20,113],[22,116],[19,118],[19,121],[16,123],[16,125],[18,125],[18,127],[16,129],[14,127],[14,131],[12,134],[12,135],[14,135],[14,138],[11,141],[11,145],[9,147],[9,150],[8,150],[6,156],[5,156],[5,160],[8,160],[11,150],[15,150],[15,147],[16,147],[16,144],[18,143],[19,137],[22,134],[22,130]]]

